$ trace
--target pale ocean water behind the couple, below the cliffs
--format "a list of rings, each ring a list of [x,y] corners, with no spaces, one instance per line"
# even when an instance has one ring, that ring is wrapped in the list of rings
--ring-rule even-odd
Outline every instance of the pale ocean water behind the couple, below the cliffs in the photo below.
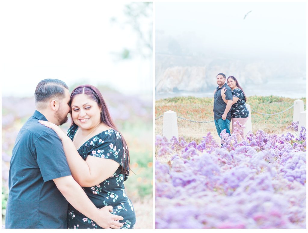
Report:
[[[246,96],[260,95],[260,96],[281,96],[288,98],[305,98],[306,97],[306,79],[290,78],[285,80],[269,80],[261,84],[246,84],[242,86]],[[195,97],[213,97],[213,90],[206,90],[205,92],[170,92],[170,93],[155,93],[155,100],[162,98],[171,98],[178,96],[195,96]]]

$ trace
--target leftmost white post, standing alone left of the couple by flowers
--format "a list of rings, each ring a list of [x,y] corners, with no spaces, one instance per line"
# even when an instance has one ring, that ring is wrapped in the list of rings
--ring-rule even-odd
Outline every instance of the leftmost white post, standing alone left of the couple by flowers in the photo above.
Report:
[[[176,112],[174,111],[169,110],[164,112],[163,136],[168,140],[170,140],[173,136],[179,139]]]

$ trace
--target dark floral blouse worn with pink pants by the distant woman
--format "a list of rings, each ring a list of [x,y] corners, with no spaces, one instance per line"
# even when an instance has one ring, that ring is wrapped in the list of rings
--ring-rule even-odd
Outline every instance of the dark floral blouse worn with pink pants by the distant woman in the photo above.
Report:
[[[231,118],[246,118],[249,116],[249,111],[245,104],[245,96],[240,88],[235,88],[232,91],[233,97],[239,98],[231,107]]]

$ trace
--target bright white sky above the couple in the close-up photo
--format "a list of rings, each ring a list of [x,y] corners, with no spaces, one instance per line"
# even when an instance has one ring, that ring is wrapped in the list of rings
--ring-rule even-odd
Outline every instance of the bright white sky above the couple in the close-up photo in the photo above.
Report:
[[[124,22],[124,5],[112,1],[2,1],[2,95],[32,96],[44,78],[69,86],[80,80],[125,94],[152,93],[152,60],[115,61],[115,52],[136,46]]]

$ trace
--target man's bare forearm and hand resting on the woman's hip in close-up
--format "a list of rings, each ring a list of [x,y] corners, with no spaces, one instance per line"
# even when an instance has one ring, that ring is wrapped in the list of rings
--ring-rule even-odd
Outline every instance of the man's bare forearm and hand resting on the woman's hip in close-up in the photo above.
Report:
[[[116,221],[123,220],[123,217],[110,213],[112,206],[97,209],[71,175],[56,178],[53,181],[65,199],[76,210],[95,221],[100,227],[119,229],[123,226],[123,223]]]

